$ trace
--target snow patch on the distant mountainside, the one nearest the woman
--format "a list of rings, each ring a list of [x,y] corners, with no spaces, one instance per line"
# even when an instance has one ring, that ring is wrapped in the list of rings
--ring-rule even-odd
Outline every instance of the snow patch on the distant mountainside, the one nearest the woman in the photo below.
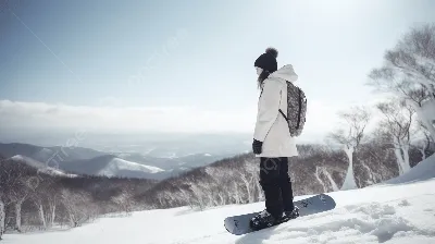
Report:
[[[164,170],[152,167],[152,166],[144,166],[137,162],[127,161],[121,158],[113,158],[107,167],[98,172],[99,175],[114,176],[117,175],[119,171],[128,170],[128,171],[142,171],[146,173],[158,173]]]

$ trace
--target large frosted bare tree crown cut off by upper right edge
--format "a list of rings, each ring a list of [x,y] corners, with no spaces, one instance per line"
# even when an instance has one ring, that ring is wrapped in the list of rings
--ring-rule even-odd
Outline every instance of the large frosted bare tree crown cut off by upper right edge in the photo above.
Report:
[[[435,111],[431,111],[435,108],[435,24],[412,28],[386,51],[383,66],[371,71],[369,85],[413,106],[435,139]]]

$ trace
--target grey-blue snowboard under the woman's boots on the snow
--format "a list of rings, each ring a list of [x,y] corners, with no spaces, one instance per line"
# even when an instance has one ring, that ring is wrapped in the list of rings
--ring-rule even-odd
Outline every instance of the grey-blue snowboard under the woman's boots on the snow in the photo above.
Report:
[[[326,194],[319,194],[306,199],[297,200],[295,202],[295,206],[299,208],[300,216],[298,218],[301,218],[303,216],[314,215],[318,212],[328,211],[334,209],[335,200]],[[260,211],[247,215],[227,217],[224,221],[225,229],[229,233],[235,235],[247,234],[250,232],[258,231],[258,230],[252,230],[249,227],[249,221],[258,213],[260,213]],[[278,225],[281,223],[283,222],[278,222],[274,225]]]

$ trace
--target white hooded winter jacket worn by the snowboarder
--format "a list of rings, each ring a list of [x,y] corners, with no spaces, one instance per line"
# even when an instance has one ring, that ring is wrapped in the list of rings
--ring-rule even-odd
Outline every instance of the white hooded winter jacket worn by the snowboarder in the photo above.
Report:
[[[286,81],[296,82],[298,75],[290,64],[273,72],[264,80],[258,102],[258,114],[253,138],[263,142],[262,152],[256,157],[298,156],[295,138],[279,109],[287,111]]]

